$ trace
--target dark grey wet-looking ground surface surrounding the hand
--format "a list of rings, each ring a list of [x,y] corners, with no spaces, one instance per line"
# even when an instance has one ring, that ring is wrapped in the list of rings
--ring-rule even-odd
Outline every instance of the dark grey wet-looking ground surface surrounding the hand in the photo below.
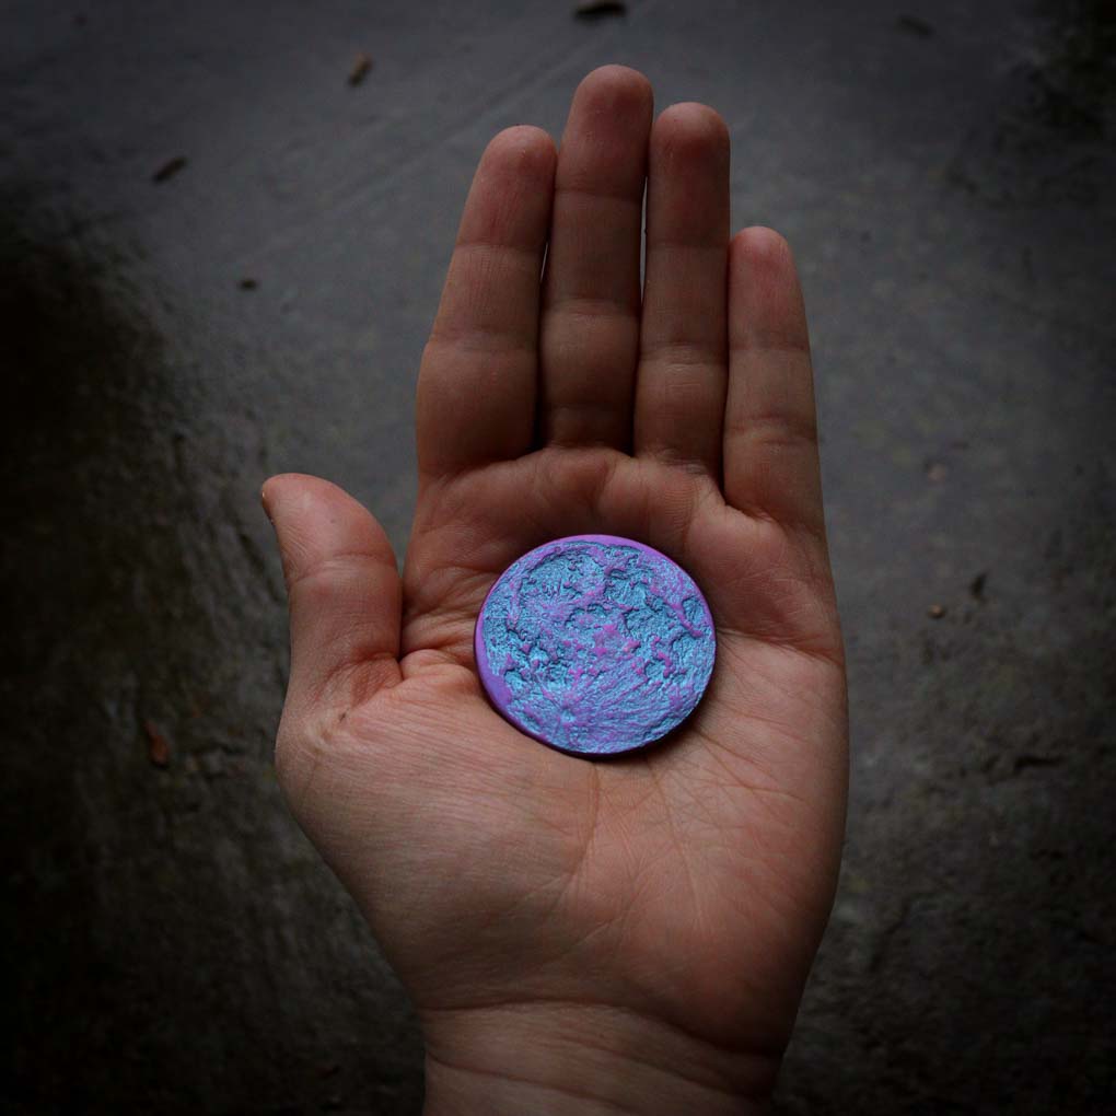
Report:
[[[6,1108],[417,1112],[271,769],[258,492],[330,477],[402,551],[475,160],[620,61],[723,114],[734,225],[789,238],[810,310],[853,792],[781,1104],[1113,1110],[1112,3],[0,20]]]

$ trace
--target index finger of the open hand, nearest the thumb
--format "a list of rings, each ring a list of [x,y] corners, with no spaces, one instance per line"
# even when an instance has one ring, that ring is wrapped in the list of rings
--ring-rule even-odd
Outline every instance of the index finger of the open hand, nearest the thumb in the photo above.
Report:
[[[419,375],[425,477],[530,446],[555,161],[554,141],[531,127],[501,132],[481,157]]]

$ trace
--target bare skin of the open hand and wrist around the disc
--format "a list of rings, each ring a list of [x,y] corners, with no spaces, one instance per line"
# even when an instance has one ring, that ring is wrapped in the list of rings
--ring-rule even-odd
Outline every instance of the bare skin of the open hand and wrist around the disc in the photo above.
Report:
[[[328,482],[263,501],[280,781],[412,997],[425,1110],[761,1107],[833,902],[847,715],[801,295],[777,233],[730,237],[716,113],[653,119],[646,78],[608,66],[560,151],[496,136],[416,415],[402,577]],[[671,556],[718,629],[691,720],[607,761],[519,733],[473,660],[493,580],[581,533]]]

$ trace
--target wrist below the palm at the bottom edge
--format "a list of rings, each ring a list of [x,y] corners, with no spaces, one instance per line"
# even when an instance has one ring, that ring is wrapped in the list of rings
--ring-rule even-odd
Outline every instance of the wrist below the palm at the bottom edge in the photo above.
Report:
[[[660,1020],[565,1002],[427,1012],[424,1116],[748,1116],[779,1058],[714,1046]]]

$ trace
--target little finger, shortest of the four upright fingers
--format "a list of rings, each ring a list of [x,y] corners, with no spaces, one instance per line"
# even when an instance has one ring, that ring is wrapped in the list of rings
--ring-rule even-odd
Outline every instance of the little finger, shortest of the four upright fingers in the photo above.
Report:
[[[787,242],[744,229],[729,246],[724,496],[741,511],[822,531],[806,310]]]

